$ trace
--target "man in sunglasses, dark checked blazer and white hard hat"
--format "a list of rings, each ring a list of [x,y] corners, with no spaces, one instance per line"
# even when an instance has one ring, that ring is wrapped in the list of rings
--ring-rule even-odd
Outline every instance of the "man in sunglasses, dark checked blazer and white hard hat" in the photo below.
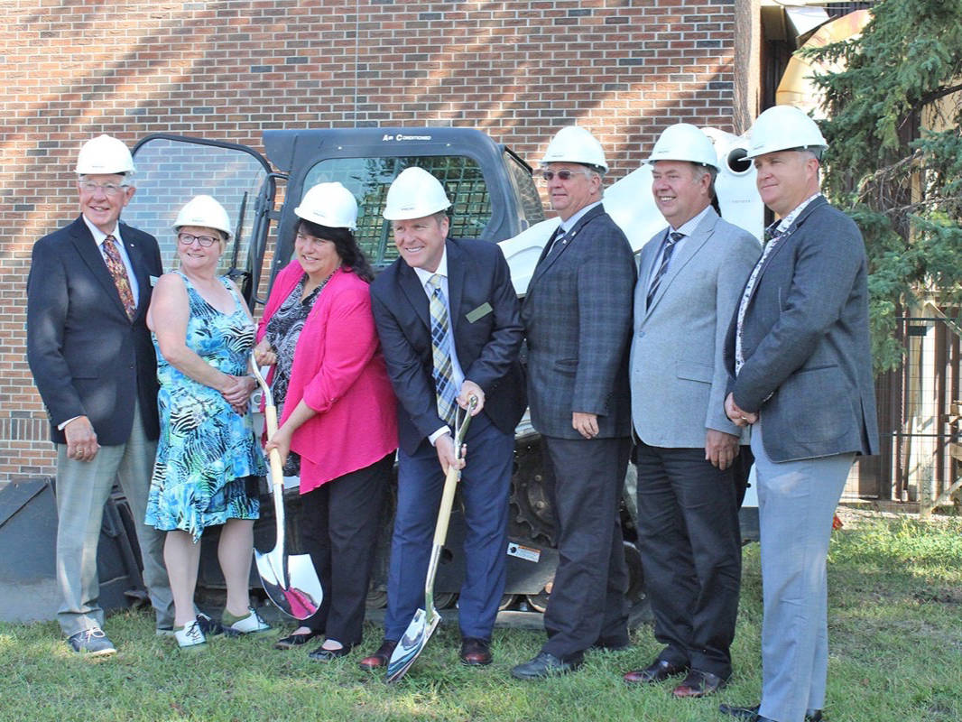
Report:
[[[584,128],[562,128],[544,156],[561,217],[521,307],[531,422],[554,469],[558,552],[544,613],[548,639],[518,679],[569,672],[592,646],[628,645],[627,572],[618,519],[630,451],[628,336],[635,265],[601,207],[608,169]]]

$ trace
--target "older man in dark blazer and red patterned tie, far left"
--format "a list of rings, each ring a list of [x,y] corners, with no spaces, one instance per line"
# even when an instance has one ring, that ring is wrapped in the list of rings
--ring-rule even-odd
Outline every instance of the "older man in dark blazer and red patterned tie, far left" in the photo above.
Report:
[[[58,612],[72,649],[114,654],[101,629],[97,542],[119,481],[137,525],[143,579],[159,632],[173,621],[164,534],[143,524],[158,437],[157,359],[144,324],[157,241],[119,222],[134,162],[100,136],[77,160],[80,218],[41,238],[27,279],[27,358],[57,445]]]

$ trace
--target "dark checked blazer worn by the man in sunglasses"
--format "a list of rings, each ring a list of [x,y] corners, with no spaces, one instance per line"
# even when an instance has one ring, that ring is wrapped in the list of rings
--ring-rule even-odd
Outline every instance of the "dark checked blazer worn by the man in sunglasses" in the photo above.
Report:
[[[598,438],[630,434],[634,284],[631,246],[600,205],[578,219],[567,243],[543,253],[521,321],[528,340],[531,422],[544,435],[580,439],[571,427],[574,411],[597,415]]]

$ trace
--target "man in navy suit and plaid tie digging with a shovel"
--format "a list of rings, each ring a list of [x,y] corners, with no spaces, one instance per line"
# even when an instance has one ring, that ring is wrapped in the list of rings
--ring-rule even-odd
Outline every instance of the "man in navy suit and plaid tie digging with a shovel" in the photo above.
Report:
[[[492,661],[491,632],[504,591],[508,495],[515,426],[524,413],[518,297],[501,249],[448,238],[450,206],[441,183],[407,168],[392,183],[384,217],[400,258],[371,284],[371,306],[397,404],[397,513],[388,577],[384,642],[362,660],[385,666],[424,605],[424,579],[445,472],[461,465],[452,439],[454,403],[477,406],[461,479],[467,569],[459,598],[461,660]],[[448,346],[435,364],[432,327],[446,317]],[[439,332],[440,333],[440,332]],[[446,339],[443,338],[446,336]]]

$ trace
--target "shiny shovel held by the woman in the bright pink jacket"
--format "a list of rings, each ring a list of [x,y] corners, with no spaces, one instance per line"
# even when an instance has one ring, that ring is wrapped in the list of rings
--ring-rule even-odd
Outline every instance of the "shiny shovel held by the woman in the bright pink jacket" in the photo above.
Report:
[[[277,407],[274,405],[274,399],[264,376],[261,375],[253,358],[250,367],[264,392],[264,416],[269,441],[277,433]],[[281,454],[276,449],[271,449],[269,455],[277,537],[274,548],[269,552],[262,554],[254,550],[257,573],[261,576],[264,591],[278,609],[294,619],[307,619],[317,611],[321,600],[324,599],[324,592],[320,587],[320,580],[317,579],[314,564],[311,562],[311,554],[288,556],[284,548],[284,470]]]

